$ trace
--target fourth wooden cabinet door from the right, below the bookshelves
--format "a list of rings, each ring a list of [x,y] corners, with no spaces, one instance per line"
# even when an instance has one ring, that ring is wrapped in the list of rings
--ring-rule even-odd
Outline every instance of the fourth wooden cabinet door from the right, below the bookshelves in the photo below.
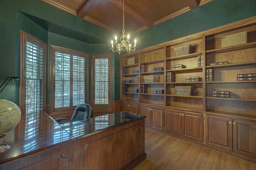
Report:
[[[182,114],[179,111],[167,110],[165,120],[166,132],[181,135]]]

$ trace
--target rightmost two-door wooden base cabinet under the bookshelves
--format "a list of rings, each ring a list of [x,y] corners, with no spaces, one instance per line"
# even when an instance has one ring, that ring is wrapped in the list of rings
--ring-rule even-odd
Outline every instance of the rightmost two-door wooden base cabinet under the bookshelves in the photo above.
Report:
[[[256,158],[256,121],[206,115],[206,144]]]

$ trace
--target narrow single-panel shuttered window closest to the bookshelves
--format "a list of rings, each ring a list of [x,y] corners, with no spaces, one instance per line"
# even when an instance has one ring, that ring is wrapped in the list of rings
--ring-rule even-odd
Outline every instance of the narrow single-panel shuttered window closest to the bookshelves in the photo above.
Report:
[[[111,54],[92,54],[92,105],[111,107]]]

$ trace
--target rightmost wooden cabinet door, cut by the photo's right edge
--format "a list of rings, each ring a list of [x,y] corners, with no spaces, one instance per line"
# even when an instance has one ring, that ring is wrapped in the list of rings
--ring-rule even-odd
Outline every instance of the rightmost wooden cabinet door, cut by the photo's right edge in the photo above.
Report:
[[[234,152],[256,158],[256,122],[233,120]]]

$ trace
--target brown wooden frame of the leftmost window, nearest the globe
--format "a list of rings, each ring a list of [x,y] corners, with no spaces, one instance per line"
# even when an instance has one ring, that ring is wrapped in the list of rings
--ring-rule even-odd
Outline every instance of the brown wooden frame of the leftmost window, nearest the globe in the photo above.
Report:
[[[47,43],[35,38],[34,36],[31,36],[30,34],[20,30],[20,77],[24,78],[20,81],[20,102],[19,107],[22,113],[26,113],[26,43],[31,42],[33,44],[36,44],[37,46],[40,46],[43,48],[44,54],[43,54],[43,111],[46,111],[46,59],[47,59]],[[36,114],[36,113],[35,113]],[[39,113],[37,113],[39,114]],[[22,119],[26,119],[26,114],[22,114]]]

